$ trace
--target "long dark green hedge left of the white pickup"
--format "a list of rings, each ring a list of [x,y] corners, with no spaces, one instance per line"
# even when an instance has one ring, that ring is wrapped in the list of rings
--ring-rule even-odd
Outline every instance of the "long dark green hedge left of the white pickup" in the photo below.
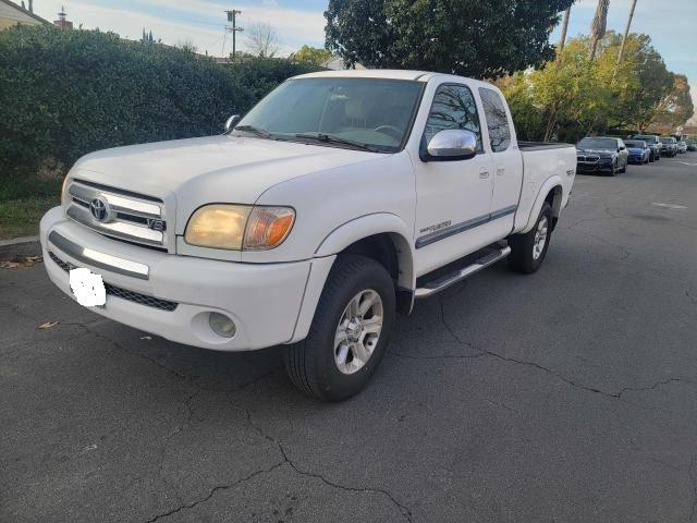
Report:
[[[230,114],[307,71],[286,60],[220,65],[99,31],[0,31],[0,195],[93,150],[219,133]]]

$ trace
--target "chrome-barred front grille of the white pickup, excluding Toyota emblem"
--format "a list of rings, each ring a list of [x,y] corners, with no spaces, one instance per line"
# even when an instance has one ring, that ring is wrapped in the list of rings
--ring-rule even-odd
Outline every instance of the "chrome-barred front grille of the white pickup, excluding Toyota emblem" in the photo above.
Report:
[[[126,195],[127,194],[127,195]],[[101,234],[136,244],[167,247],[167,222],[163,205],[156,198],[135,193],[125,193],[119,188],[96,185],[73,180],[68,186],[70,198],[65,204],[65,215],[72,220]],[[90,202],[101,198],[111,209],[111,218],[98,221],[90,212]],[[156,221],[160,230],[151,229]],[[152,226],[155,227],[155,226]]]

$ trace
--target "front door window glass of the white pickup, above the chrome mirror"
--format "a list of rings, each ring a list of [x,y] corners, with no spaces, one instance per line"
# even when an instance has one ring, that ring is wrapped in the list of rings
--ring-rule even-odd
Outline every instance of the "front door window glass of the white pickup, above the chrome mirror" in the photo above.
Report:
[[[477,150],[482,151],[479,115],[472,90],[464,85],[445,84],[438,87],[428,114],[424,139],[426,144],[440,131],[465,129],[477,136]]]

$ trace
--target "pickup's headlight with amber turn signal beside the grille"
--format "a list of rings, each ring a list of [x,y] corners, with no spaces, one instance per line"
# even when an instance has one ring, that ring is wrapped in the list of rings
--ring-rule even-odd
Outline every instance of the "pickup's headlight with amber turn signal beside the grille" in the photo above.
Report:
[[[201,247],[264,251],[280,245],[294,221],[290,207],[206,205],[192,215],[184,241]]]

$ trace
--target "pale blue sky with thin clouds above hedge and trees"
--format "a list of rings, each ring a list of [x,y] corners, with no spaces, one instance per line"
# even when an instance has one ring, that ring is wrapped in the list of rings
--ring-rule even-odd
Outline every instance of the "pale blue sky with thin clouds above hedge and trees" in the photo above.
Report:
[[[271,24],[280,37],[279,54],[285,56],[304,44],[323,47],[322,13],[327,3],[327,0],[34,0],[34,11],[53,21],[62,5],[76,26],[82,23],[85,28],[99,27],[134,39],[145,28],[164,44],[191,42],[199,52],[227,56],[232,50],[232,40],[224,33],[223,11],[234,8],[242,11],[241,27]],[[596,3],[597,0],[576,1],[568,24],[570,37],[588,34]],[[610,0],[608,29],[624,31],[629,4],[631,0]],[[697,0],[638,0],[632,31],[648,34],[668,69],[687,75],[697,107]],[[558,41],[559,34],[558,27],[551,41]],[[244,35],[239,38],[239,46],[244,50]]]

